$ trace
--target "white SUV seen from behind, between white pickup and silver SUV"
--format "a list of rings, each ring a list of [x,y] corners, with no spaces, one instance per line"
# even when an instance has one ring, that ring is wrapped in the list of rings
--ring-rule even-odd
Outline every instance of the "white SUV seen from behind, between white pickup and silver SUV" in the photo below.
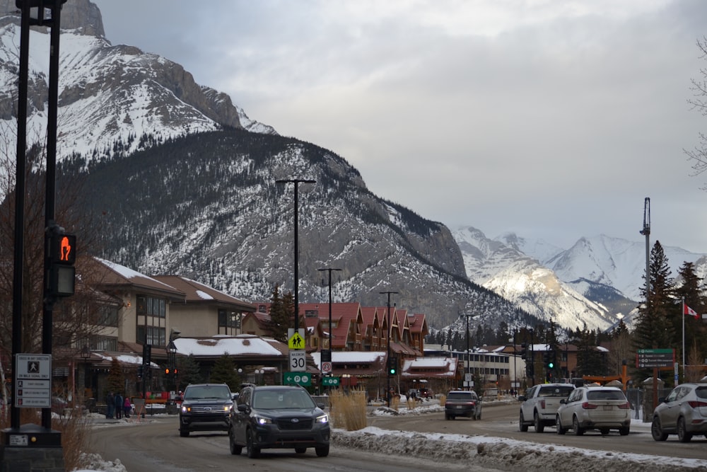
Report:
[[[631,429],[631,407],[617,387],[578,387],[557,409],[557,434],[573,430],[576,436],[586,430],[619,430],[621,436]]]

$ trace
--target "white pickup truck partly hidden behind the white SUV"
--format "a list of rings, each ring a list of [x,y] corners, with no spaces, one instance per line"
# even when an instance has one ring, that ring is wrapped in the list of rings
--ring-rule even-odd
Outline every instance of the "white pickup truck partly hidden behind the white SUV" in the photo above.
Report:
[[[543,432],[546,426],[555,424],[560,401],[575,389],[573,384],[537,384],[525,395],[519,395],[520,418],[518,428],[525,432],[532,425],[535,432]]]

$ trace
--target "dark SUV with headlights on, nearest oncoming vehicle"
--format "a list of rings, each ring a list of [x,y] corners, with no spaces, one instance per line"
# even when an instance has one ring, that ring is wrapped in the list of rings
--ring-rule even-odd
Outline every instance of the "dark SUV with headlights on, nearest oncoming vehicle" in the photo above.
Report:
[[[261,449],[294,449],[301,454],[313,447],[317,456],[329,455],[329,415],[300,386],[246,386],[230,413],[228,439],[231,454],[245,447],[248,457]]]

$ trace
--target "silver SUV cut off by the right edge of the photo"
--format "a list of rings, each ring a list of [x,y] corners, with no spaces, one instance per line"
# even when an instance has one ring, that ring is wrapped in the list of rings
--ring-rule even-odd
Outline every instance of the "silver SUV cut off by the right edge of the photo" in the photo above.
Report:
[[[689,442],[694,434],[707,436],[707,384],[681,384],[660,398],[653,410],[650,434],[656,441],[677,434],[680,442]]]

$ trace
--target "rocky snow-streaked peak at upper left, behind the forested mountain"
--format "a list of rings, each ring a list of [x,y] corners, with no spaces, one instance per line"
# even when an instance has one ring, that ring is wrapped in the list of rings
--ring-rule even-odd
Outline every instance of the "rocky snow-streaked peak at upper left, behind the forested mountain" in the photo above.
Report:
[[[0,11],[8,12],[0,17],[0,124],[14,135],[20,15],[14,0],[0,0]],[[250,120],[225,93],[196,84],[180,64],[137,47],[111,45],[98,7],[88,0],[71,0],[62,8],[59,51],[59,160],[127,156],[172,137],[224,127],[275,134]],[[48,77],[49,34],[31,28],[29,142],[45,136]]]

